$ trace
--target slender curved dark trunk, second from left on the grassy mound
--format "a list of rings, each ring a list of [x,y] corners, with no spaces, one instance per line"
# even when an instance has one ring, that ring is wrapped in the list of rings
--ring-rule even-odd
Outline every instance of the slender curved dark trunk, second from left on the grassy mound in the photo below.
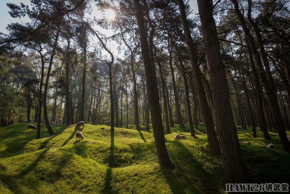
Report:
[[[53,44],[53,48],[52,48],[52,52],[51,52],[51,56],[50,56],[50,61],[49,61],[49,65],[48,65],[46,80],[45,80],[45,84],[44,84],[44,91],[43,91],[43,116],[44,116],[44,122],[45,122],[45,125],[46,125],[46,128],[47,128],[49,135],[53,135],[54,133],[53,133],[52,128],[51,128],[49,121],[48,121],[47,107],[46,107],[46,96],[47,96],[50,70],[51,70],[51,66],[52,66],[52,62],[53,62],[53,57],[55,55],[55,50],[57,47],[58,33],[59,32],[57,31],[56,36],[55,36],[55,42]]]

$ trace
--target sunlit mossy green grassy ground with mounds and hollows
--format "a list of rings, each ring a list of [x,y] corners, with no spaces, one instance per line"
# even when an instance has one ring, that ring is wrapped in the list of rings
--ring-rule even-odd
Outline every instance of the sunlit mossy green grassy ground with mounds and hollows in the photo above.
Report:
[[[203,126],[195,131],[198,139],[190,137],[188,125],[165,133],[173,171],[158,165],[152,130],[137,131],[131,125],[111,134],[105,125],[86,125],[83,130],[57,125],[52,126],[55,135],[48,136],[41,125],[41,139],[36,140],[36,131],[26,126],[0,128],[5,193],[224,193],[222,163],[207,146]],[[75,141],[77,130],[84,140]],[[189,139],[174,140],[177,133]],[[290,155],[283,152],[278,134],[270,133],[270,141],[259,130],[255,139],[250,130],[238,130],[238,135],[252,183],[290,184]],[[266,148],[270,142],[277,150]]]

